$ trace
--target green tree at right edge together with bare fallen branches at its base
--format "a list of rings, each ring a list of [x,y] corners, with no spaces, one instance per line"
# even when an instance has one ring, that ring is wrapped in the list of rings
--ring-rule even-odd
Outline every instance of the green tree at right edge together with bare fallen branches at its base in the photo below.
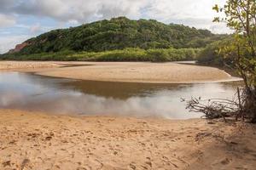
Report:
[[[202,111],[208,116],[244,116],[256,122],[256,0],[227,0],[224,7],[213,8],[224,17],[216,17],[214,22],[225,22],[234,31],[233,39],[219,50],[227,60],[231,60],[244,82],[243,94],[238,91],[238,102],[231,102],[236,109],[227,111],[230,101],[212,101],[201,105],[199,99],[188,102],[191,111]],[[229,106],[227,106],[229,104]]]

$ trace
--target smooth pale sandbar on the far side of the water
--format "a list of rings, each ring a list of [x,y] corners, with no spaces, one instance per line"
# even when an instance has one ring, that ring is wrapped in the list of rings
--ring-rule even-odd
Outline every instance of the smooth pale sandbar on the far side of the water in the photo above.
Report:
[[[106,82],[193,83],[237,80],[218,68],[172,62],[1,61],[0,70],[32,71],[38,75],[48,77]]]

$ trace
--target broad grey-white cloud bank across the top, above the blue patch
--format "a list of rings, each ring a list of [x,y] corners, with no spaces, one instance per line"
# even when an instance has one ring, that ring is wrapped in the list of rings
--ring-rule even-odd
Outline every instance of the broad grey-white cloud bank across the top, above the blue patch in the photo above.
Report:
[[[49,17],[66,23],[81,24],[125,15],[226,31],[223,25],[212,23],[216,15],[212,6],[223,5],[225,0],[0,0],[0,3],[4,14]]]

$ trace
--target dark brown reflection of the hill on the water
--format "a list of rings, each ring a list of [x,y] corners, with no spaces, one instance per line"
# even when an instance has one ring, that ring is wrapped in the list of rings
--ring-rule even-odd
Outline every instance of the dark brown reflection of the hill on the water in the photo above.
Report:
[[[74,91],[83,92],[113,99],[129,99],[131,97],[153,96],[162,90],[182,90],[189,85],[182,84],[150,84],[137,82],[97,82],[75,81],[63,83],[63,86],[72,88]],[[191,85],[190,85],[191,86]]]

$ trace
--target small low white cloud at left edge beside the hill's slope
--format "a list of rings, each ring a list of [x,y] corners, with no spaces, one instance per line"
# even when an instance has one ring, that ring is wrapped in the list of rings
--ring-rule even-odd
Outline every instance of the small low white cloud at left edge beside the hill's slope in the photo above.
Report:
[[[26,41],[30,36],[8,36],[0,37],[0,54],[7,53],[9,49],[15,48],[15,45]]]

